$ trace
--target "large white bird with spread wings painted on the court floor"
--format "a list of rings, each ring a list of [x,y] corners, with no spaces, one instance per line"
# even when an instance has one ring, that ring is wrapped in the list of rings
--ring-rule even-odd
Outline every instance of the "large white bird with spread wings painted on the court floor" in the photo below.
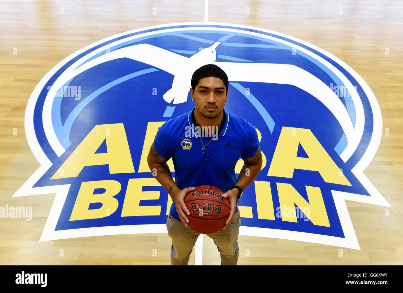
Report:
[[[189,58],[150,44],[138,44],[102,54],[84,64],[82,64],[83,60],[79,60],[69,68],[70,70],[66,70],[58,77],[52,86],[53,89],[48,92],[48,96],[50,98],[54,97],[58,88],[87,69],[110,60],[125,57],[150,64],[150,66],[174,75],[172,87],[163,94],[163,98],[167,103],[180,104],[187,101],[193,72],[197,68],[211,63],[223,69],[228,75],[229,81],[287,84],[308,92],[322,102],[339,121],[346,135],[349,148],[349,154],[345,154],[345,158],[352,154],[359,143],[359,138],[362,136],[363,125],[353,127],[347,109],[328,85],[318,77],[292,64],[217,62],[216,48],[220,44],[222,43],[214,42],[212,46],[200,50]],[[94,54],[99,54],[99,52]],[[276,95],[278,98],[287,99],[281,93],[276,93]],[[356,107],[356,111],[357,115],[363,115],[364,113],[364,110],[360,107]]]

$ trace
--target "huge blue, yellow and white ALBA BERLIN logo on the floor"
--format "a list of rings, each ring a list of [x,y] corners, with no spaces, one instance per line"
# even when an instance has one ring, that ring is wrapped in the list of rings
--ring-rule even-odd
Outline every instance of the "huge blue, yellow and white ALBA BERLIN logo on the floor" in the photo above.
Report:
[[[208,63],[226,71],[225,110],[256,126],[263,153],[239,234],[359,249],[345,200],[389,206],[363,174],[382,134],[371,89],[312,44],[223,23],[120,33],[38,83],[25,132],[41,166],[13,196],[56,193],[40,241],[166,233],[172,201],[147,155],[158,127],[194,108],[191,75]]]

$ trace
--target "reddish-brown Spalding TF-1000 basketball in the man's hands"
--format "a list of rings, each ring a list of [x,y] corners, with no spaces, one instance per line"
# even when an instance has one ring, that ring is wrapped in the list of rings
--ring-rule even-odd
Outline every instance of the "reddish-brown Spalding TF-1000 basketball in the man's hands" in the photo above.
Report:
[[[196,232],[210,234],[225,226],[229,217],[229,199],[222,197],[222,190],[210,185],[202,185],[190,191],[184,198],[190,214],[189,227]]]

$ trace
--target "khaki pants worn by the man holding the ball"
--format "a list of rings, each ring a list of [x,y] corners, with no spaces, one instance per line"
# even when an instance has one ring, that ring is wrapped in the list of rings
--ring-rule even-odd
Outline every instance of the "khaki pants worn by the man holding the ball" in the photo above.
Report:
[[[238,262],[238,233],[241,226],[239,218],[239,208],[225,230],[220,230],[212,234],[206,234],[214,240],[217,249],[220,252],[221,265],[236,266]],[[171,246],[171,264],[187,266],[189,256],[196,243],[200,233],[186,227],[181,221],[173,218],[170,214],[166,220],[168,235],[172,239]]]

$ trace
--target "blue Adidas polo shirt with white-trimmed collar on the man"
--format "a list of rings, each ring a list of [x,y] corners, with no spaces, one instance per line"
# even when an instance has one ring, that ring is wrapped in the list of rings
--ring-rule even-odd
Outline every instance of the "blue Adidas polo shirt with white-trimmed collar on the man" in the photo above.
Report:
[[[245,119],[223,110],[218,136],[212,139],[195,127],[198,124],[194,111],[172,118],[159,127],[154,148],[162,158],[172,158],[179,189],[212,185],[226,192],[237,181],[235,165],[239,158],[251,158],[258,151],[258,134]],[[200,139],[204,145],[212,139],[204,153]],[[180,221],[174,204],[170,214]]]

